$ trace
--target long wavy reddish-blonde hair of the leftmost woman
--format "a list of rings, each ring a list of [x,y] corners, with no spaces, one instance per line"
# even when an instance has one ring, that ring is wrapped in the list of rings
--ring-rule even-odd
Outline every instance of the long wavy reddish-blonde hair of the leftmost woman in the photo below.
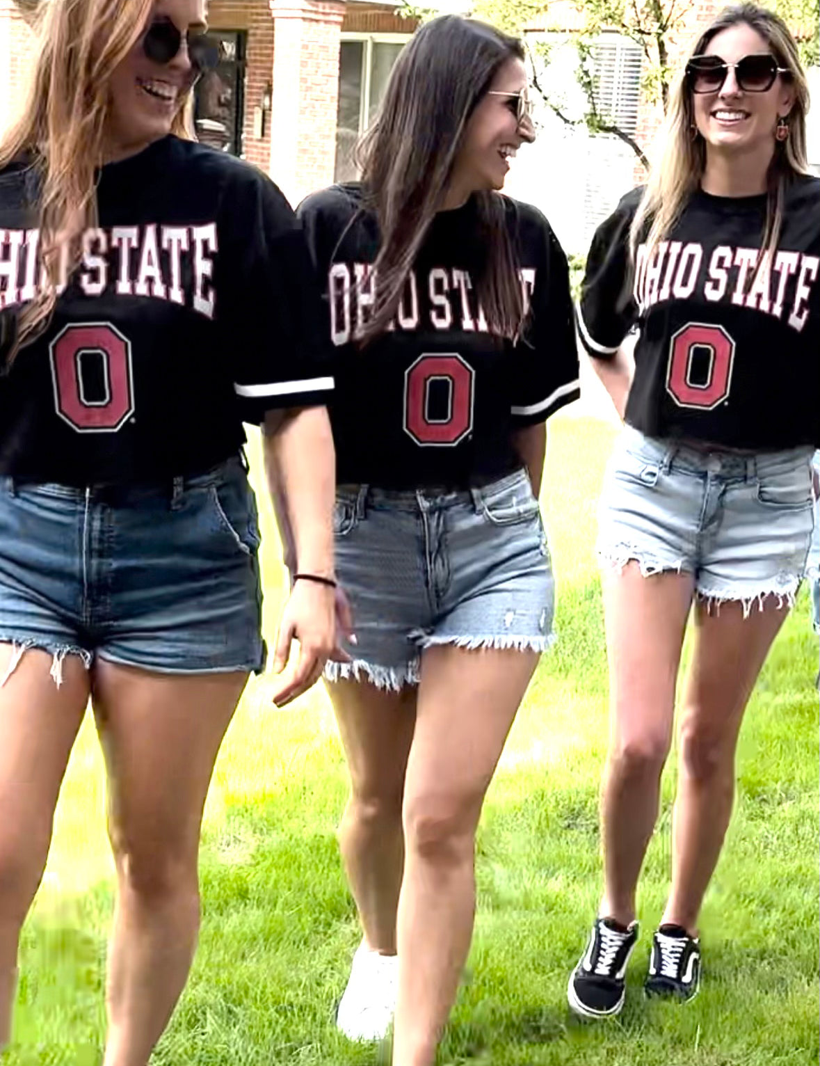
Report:
[[[143,32],[153,0],[48,0],[23,106],[0,141],[0,168],[24,159],[38,172],[44,282],[21,311],[14,358],[48,326],[61,274],[80,259],[80,236],[97,223],[97,168],[104,158],[109,83]],[[190,93],[173,131],[192,136]]]

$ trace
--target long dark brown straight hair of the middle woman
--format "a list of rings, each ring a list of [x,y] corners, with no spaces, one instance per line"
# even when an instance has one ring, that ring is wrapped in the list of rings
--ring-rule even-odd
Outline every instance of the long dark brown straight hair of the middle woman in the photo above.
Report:
[[[416,31],[390,75],[374,124],[357,149],[365,207],[375,211],[381,245],[366,343],[383,333],[401,301],[410,269],[441,209],[468,122],[498,69],[524,59],[515,37],[483,22],[444,15]],[[503,198],[476,194],[486,258],[474,277],[490,332],[514,338],[524,301]]]

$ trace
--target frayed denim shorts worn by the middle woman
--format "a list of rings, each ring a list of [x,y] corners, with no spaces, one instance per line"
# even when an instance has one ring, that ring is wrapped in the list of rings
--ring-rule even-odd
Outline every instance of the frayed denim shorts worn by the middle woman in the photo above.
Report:
[[[419,681],[434,644],[543,651],[555,586],[538,500],[523,470],[464,491],[343,485],[337,574],[350,599],[351,663],[329,680],[365,677],[397,690]]]

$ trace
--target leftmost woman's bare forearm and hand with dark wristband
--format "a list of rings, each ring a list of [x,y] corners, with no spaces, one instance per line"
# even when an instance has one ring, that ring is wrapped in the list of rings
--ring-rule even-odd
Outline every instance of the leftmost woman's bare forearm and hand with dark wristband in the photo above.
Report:
[[[332,580],[335,454],[326,408],[269,413],[263,425],[263,449],[289,568],[293,574]],[[284,669],[294,640],[299,643],[299,657],[274,695],[277,706],[309,689],[334,652],[334,604],[330,585],[295,582],[279,623],[275,673]]]

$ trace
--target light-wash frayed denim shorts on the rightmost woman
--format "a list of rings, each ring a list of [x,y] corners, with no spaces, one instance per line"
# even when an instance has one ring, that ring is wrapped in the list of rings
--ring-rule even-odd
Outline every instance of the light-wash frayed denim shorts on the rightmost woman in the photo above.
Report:
[[[644,576],[685,570],[698,595],[744,613],[793,603],[814,527],[811,449],[754,455],[645,437],[626,426],[604,478],[598,558]]]

